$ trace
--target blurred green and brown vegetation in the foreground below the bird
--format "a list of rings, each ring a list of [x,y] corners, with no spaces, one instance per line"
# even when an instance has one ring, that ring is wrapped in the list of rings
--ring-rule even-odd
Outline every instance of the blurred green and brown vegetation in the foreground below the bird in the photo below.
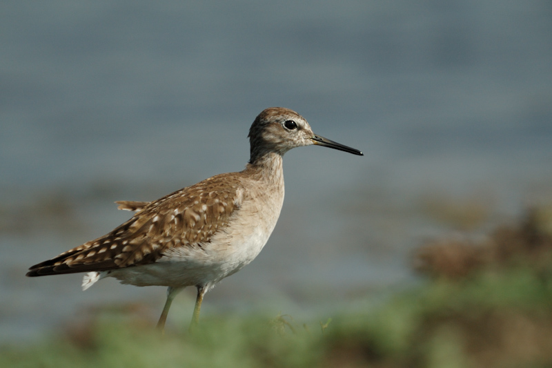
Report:
[[[166,336],[105,312],[64,336],[4,347],[0,367],[552,367],[552,236],[535,213],[482,244],[422,246],[427,281],[364,311],[206,316],[192,335]]]

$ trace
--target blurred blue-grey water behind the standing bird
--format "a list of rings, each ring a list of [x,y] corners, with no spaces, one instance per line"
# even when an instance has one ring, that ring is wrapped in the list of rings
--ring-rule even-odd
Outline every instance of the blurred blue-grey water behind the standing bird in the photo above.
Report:
[[[471,234],[552,200],[551,45],[546,0],[3,1],[0,340],[106,304],[155,320],[161,287],[24,274],[126,220],[115,200],[241,170],[268,106],[365,156],[287,153],[273,236],[203,313],[301,313],[411,282],[412,249],[457,231],[427,198],[481,203]]]

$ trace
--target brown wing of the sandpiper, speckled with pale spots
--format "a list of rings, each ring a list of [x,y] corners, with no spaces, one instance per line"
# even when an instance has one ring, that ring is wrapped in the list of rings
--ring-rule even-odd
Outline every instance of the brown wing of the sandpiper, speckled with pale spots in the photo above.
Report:
[[[30,267],[28,276],[107,271],[150,264],[167,249],[201,246],[228,226],[242,203],[239,173],[210,177],[155,202],[117,202],[135,215],[101,238]]]

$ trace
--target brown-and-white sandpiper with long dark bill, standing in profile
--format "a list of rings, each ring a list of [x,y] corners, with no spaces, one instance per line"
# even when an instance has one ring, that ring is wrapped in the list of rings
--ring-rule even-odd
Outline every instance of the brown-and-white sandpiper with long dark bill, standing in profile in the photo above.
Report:
[[[363,155],[316,135],[304,117],[288,108],[263,110],[248,138],[250,159],[243,171],[209,177],[152,202],[115,202],[119,209],[135,212],[130,220],[35,264],[26,275],[86,272],[83,290],[106,277],[139,287],[167,287],[157,322],[161,331],[177,293],[196,287],[192,331],[205,294],[253,261],[273,232],[284,202],[284,153],[317,145]]]

